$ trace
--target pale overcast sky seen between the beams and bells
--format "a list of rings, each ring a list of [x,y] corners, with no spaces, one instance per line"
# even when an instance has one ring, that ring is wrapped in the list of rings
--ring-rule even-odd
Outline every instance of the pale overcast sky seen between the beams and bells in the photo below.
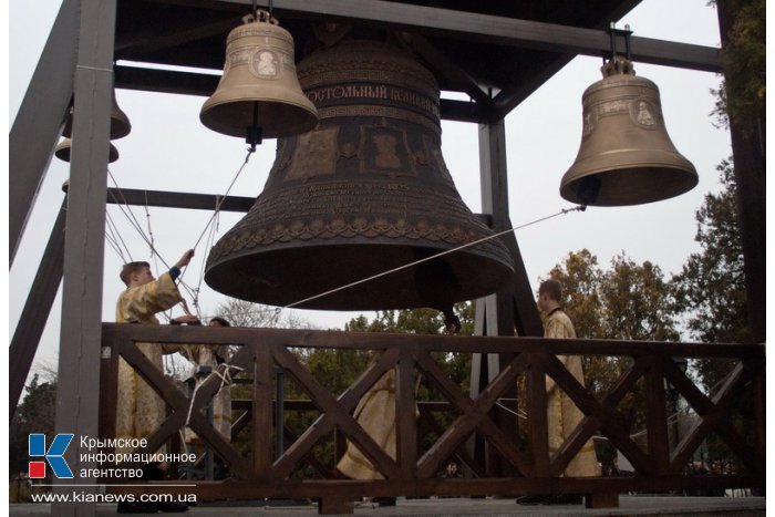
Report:
[[[56,15],[61,0],[10,0],[9,20],[9,131],[29,84],[40,52]],[[670,13],[670,15],[666,15]],[[282,20],[280,20],[282,23]],[[629,24],[634,35],[719,46],[716,11],[706,0],[643,0],[623,17],[618,27]],[[581,94],[598,81],[601,60],[579,56],[538,89],[506,117],[508,199],[515,226],[555,214],[574,205],[559,196],[560,178],[572,164],[581,141]],[[517,230],[528,280],[537,290],[539,279],[570,251],[589,249],[601,266],[627,254],[641,263],[658,265],[665,277],[679,272],[690,254],[699,251],[694,241],[695,210],[707,193],[720,189],[716,166],[732,153],[728,133],[714,125],[712,116],[721,77],[713,73],[634,63],[638,75],[660,89],[668,133],[681,154],[692,162],[700,183],[691,192],[672,199],[631,207],[589,207]],[[206,97],[116,91],[117,103],[126,113],[132,132],[116,139],[120,159],[110,165],[120,188],[225,194],[241,166],[246,145],[199,122]],[[442,123],[442,151],[464,201],[480,211],[477,125]],[[257,197],[275,158],[276,141],[265,141],[239,175],[230,195]],[[24,306],[56,210],[62,201],[62,184],[69,164],[52,159],[21,247],[10,270],[9,339]],[[116,186],[108,177],[108,186]],[[132,260],[154,265],[149,247],[116,206],[108,216],[131,252]],[[169,265],[193,247],[206,228],[211,211],[133,207],[146,234]],[[218,236],[234,226],[241,215],[224,213]],[[215,313],[225,297],[200,282],[207,256],[207,237],[184,280],[200,286],[203,316]],[[124,259],[126,251],[124,251]],[[105,246],[103,321],[113,321],[115,300],[124,289],[118,271],[124,259]],[[161,273],[163,263],[154,267]],[[60,288],[61,291],[61,288]],[[192,297],[186,294],[189,304]],[[61,292],[54,301],[39,347],[33,371],[55,365],[59,347]],[[176,310],[174,316],[179,316]],[[359,312],[296,311],[294,317],[320,329],[342,328]],[[366,313],[366,316],[372,316]]]

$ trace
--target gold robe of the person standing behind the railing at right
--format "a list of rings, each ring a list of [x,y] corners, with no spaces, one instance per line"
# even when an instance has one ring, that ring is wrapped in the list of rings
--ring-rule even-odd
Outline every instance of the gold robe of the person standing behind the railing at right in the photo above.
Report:
[[[561,310],[554,311],[546,320],[545,338],[576,339],[576,330],[568,314]],[[557,355],[557,359],[568,369],[581,385],[583,385],[583,371],[580,355]],[[549,452],[556,453],[566,437],[574,432],[583,418],[570,397],[560,390],[554,379],[546,378],[547,394],[547,424],[549,427]],[[598,459],[595,454],[595,444],[591,438],[581,447],[574,459],[568,464],[565,475],[568,477],[582,477],[597,475]]]

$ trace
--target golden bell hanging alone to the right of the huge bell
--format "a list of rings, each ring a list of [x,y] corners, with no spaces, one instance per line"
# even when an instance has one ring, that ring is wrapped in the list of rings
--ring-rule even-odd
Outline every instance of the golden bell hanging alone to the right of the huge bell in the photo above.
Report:
[[[640,205],[698,184],[694,166],[675,149],[662,118],[659,89],[616,56],[603,79],[583,92],[583,128],[560,195],[581,205]]]

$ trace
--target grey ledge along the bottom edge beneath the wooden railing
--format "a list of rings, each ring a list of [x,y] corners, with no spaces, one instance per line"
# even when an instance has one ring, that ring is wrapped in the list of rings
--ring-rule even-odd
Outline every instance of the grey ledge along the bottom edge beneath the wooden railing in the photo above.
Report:
[[[317,516],[317,504],[286,504],[281,502],[252,502],[239,506],[194,506],[185,516],[266,516],[297,517]],[[116,515],[115,505],[97,505],[99,516]],[[50,505],[10,505],[12,517],[49,516]],[[155,514],[163,515],[163,514]],[[660,516],[746,516],[766,515],[766,497],[670,497],[670,496],[621,496],[619,508],[587,509],[582,505],[568,506],[520,506],[514,499],[399,499],[394,507],[375,507],[364,503],[355,507],[355,515],[382,516],[603,516],[603,515],[660,515]]]

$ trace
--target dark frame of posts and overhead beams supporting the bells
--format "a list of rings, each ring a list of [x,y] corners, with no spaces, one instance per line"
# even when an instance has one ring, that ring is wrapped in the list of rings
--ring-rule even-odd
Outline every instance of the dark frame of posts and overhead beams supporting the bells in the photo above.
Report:
[[[164,2],[159,2],[164,3]],[[185,1],[176,0],[176,6]],[[203,4],[200,0],[192,4]],[[247,9],[249,0],[211,0],[215,10]],[[369,6],[364,6],[369,3]],[[437,2],[443,3],[443,2]],[[508,92],[492,97],[463,68],[438,60],[440,70],[463,85],[475,103],[445,101],[442,117],[479,124],[479,157],[483,210],[492,215],[496,230],[512,227],[508,217],[507,169],[505,157],[505,115],[560,70],[576,54],[600,55],[609,45],[608,33],[600,27],[632,9],[638,0],[609,2],[611,8],[600,13],[600,23],[587,27],[555,25],[552,23],[454,11],[380,0],[276,0],[278,18],[299,14],[301,18],[328,14],[363,23],[382,23],[402,31],[444,33],[450,38],[472,41],[486,40],[510,48],[530,48],[554,52],[554,58],[535,71],[526,81]],[[720,0],[725,9],[727,2]],[[282,13],[280,13],[282,11]],[[724,11],[727,13],[728,11]],[[51,232],[46,251],[30,288],[28,308],[14,331],[10,347],[10,407],[16,411],[24,380],[29,373],[38,342],[53,304],[59,282],[63,280],[62,329],[60,342],[59,386],[56,406],[58,430],[81,435],[97,435],[97,396],[101,343],[101,312],[103,283],[103,251],[105,228],[108,128],[112,87],[177,92],[207,95],[214,89],[211,76],[175,74],[158,71],[127,70],[114,64],[115,20],[120,14],[117,0],[63,0],[41,60],[28,92],[13,122],[9,137],[9,251],[10,263],[24,234],[24,226],[44,179],[56,141],[62,131],[71,100],[75,99],[73,151],[70,167],[69,194],[63,210]],[[726,14],[725,14],[726,15]],[[725,27],[723,18],[722,28]],[[200,33],[230,23],[216,21],[203,25]],[[559,30],[561,29],[561,30]],[[193,38],[189,31],[185,37]],[[149,45],[161,40],[149,41]],[[433,53],[423,38],[415,39],[418,53]],[[633,59],[640,62],[664,64],[693,70],[720,72],[719,50],[699,45],[632,38]],[[217,77],[216,77],[217,80]],[[472,105],[473,104],[473,105]],[[737,164],[762,163],[755,146],[743,142],[742,128],[732,126],[732,138]],[[737,167],[736,167],[737,168]],[[761,167],[763,169],[763,166]],[[758,167],[737,173],[741,206],[758,207],[744,217],[744,249],[748,301],[755,341],[764,341],[765,300],[764,278],[764,189]],[[207,203],[198,195],[158,193],[157,206],[193,208]],[[232,209],[244,200],[230,199]],[[228,204],[226,205],[228,206]],[[66,208],[66,217],[64,211]],[[747,223],[746,223],[747,221]],[[758,225],[758,230],[752,229]],[[747,229],[746,229],[747,228]],[[515,276],[496,294],[487,297],[477,308],[476,329],[486,335],[513,335],[515,329],[523,335],[540,335],[540,320],[536,312],[530,283],[525,272],[519,247],[513,235],[506,239],[515,260]],[[9,263],[9,265],[10,265]],[[754,279],[755,277],[758,277]],[[752,287],[753,286],[753,287]],[[758,289],[761,286],[762,289]],[[32,310],[34,308],[35,310]],[[497,373],[499,358],[475,360],[474,380],[484,380]],[[478,382],[472,382],[472,385]],[[81,463],[81,447],[73,443],[68,461],[75,469],[89,468]],[[92,479],[95,483],[94,479]],[[53,515],[94,515],[90,505],[55,504]]]

